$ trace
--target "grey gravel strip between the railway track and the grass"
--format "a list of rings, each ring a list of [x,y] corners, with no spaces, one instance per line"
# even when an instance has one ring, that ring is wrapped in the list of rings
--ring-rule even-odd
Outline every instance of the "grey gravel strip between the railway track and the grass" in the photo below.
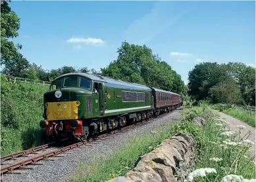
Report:
[[[155,118],[150,120],[147,124],[136,126],[132,130],[122,132],[111,136],[109,139],[101,142],[93,142],[91,146],[82,146],[78,149],[67,151],[64,157],[51,157],[56,160],[39,161],[43,165],[28,166],[33,170],[15,170],[21,174],[5,174],[1,176],[2,181],[70,181],[70,177],[76,172],[76,166],[80,162],[92,162],[99,160],[104,155],[115,151],[117,147],[122,147],[126,141],[133,136],[139,136],[145,131],[152,131],[165,122],[176,122],[180,120],[181,110],[172,111],[172,113],[165,115],[165,117]]]

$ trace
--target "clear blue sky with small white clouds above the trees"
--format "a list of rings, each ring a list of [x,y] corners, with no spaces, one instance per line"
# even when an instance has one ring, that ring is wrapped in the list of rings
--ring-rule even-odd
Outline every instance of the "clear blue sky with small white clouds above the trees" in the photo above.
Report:
[[[122,41],[147,45],[187,83],[199,62],[255,66],[255,1],[12,1],[22,54],[44,69],[100,70]]]

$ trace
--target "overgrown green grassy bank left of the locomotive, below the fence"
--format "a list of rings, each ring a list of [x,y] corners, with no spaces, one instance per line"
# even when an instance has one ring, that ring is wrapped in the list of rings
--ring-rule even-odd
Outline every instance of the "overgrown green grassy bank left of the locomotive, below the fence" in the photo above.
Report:
[[[1,75],[1,155],[10,155],[43,143],[43,94],[47,86],[13,83]]]

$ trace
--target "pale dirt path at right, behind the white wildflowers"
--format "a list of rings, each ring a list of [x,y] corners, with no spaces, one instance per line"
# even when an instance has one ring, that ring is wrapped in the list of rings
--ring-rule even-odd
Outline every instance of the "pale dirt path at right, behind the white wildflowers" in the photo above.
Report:
[[[245,122],[242,122],[241,120],[238,120],[237,118],[231,117],[230,115],[226,115],[224,113],[221,113],[219,111],[217,111],[218,114],[220,115],[220,117],[226,119],[228,122],[230,122],[231,126],[230,129],[232,131],[239,131],[239,128],[236,128],[237,125],[242,125],[245,126],[245,130],[242,130],[242,136],[244,136],[248,130],[250,130],[252,132],[252,134],[247,138],[251,141],[254,142],[254,145],[251,147],[251,156],[255,155],[255,128],[253,128],[252,126],[249,126],[248,124],[246,124]]]

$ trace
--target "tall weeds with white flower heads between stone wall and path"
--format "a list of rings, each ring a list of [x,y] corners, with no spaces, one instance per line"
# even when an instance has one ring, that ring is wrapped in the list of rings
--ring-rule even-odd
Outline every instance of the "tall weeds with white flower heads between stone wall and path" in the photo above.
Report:
[[[230,174],[255,178],[254,157],[251,158],[249,153],[252,142],[246,139],[251,132],[242,136],[245,128],[237,126],[240,128],[238,132],[229,132],[228,125],[226,120],[214,115],[205,120],[202,128],[203,145],[201,153],[196,156],[197,170],[213,168],[216,173],[203,177],[192,172],[189,176],[193,181],[221,181]]]

